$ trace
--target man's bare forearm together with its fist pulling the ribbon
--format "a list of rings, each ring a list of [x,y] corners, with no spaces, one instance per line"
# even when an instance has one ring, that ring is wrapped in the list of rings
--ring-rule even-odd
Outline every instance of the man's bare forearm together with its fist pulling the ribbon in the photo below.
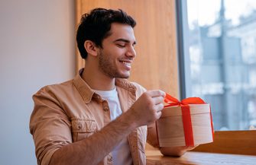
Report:
[[[126,113],[109,122],[99,132],[55,151],[50,164],[98,164],[134,129],[160,118],[164,96],[161,90],[145,92]]]

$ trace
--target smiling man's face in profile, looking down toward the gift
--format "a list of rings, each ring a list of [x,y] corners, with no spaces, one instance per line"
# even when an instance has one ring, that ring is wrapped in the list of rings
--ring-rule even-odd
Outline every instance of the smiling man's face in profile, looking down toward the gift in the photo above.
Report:
[[[99,69],[109,78],[128,78],[136,56],[134,31],[129,25],[113,23],[110,33],[99,50]]]

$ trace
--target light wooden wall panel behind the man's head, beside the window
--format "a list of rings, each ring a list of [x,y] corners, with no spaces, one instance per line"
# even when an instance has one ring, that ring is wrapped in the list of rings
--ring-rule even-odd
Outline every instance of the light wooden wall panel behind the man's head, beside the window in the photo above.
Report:
[[[137,21],[131,81],[178,97],[175,0],[76,0],[76,23],[92,8],[122,8]],[[84,63],[77,52],[77,69]]]

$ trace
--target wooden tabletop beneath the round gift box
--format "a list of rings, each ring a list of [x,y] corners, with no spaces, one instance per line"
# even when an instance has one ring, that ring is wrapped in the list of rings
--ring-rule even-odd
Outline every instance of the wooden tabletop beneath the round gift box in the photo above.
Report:
[[[179,164],[200,164],[200,165],[255,165],[256,156],[241,154],[214,154],[206,152],[187,151],[182,157],[164,157],[160,151],[146,151],[147,165],[179,165]]]

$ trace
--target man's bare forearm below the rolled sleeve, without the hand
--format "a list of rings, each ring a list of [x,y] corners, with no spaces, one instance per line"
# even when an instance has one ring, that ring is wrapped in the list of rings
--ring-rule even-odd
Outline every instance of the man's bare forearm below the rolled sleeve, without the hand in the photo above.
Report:
[[[129,112],[124,113],[89,138],[65,145],[55,151],[50,165],[99,163],[122,141],[122,138],[127,137],[132,130],[138,127],[138,124],[133,121],[134,116]]]

